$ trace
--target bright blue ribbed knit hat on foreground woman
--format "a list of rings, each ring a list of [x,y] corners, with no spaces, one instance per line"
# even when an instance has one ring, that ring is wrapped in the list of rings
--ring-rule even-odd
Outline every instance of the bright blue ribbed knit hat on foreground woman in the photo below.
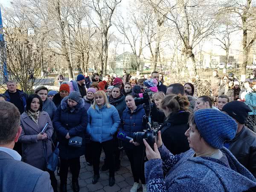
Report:
[[[201,109],[196,111],[194,116],[201,137],[214,148],[222,148],[225,141],[236,136],[236,122],[219,110]]]

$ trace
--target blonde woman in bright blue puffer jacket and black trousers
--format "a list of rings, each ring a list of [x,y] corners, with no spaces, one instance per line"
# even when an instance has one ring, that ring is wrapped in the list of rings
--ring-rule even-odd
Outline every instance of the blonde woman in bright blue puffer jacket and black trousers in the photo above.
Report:
[[[107,95],[99,90],[94,94],[94,103],[87,111],[87,133],[90,134],[93,151],[93,181],[99,180],[99,159],[102,148],[109,165],[109,186],[115,184],[115,163],[113,154],[113,135],[120,123],[118,111],[108,103]]]

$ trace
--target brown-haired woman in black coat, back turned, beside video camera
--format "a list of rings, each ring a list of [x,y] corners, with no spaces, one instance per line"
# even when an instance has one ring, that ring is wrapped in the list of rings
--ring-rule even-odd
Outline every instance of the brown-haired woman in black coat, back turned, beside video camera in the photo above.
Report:
[[[166,116],[161,126],[161,136],[166,148],[172,154],[180,154],[189,150],[189,143],[185,136],[189,128],[189,101],[186,96],[167,95],[160,103],[160,108]]]

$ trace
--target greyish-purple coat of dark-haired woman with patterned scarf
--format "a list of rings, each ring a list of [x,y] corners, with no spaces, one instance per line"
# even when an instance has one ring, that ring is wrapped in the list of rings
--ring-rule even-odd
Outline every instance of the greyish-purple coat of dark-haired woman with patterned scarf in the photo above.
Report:
[[[47,145],[47,156],[52,154],[52,142],[50,140],[38,140],[37,135],[43,130],[48,122],[45,133],[48,138],[52,137],[52,121],[47,112],[41,111],[38,125],[28,116],[26,112],[20,116],[20,126],[22,128],[19,142],[22,143],[22,158],[25,163],[38,169],[45,170],[46,159],[44,152],[44,142]]]

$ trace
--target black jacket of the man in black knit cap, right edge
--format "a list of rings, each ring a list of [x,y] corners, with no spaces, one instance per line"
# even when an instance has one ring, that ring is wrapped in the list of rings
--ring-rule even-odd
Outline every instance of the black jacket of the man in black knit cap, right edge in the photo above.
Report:
[[[225,146],[256,178],[256,133],[244,126]]]

